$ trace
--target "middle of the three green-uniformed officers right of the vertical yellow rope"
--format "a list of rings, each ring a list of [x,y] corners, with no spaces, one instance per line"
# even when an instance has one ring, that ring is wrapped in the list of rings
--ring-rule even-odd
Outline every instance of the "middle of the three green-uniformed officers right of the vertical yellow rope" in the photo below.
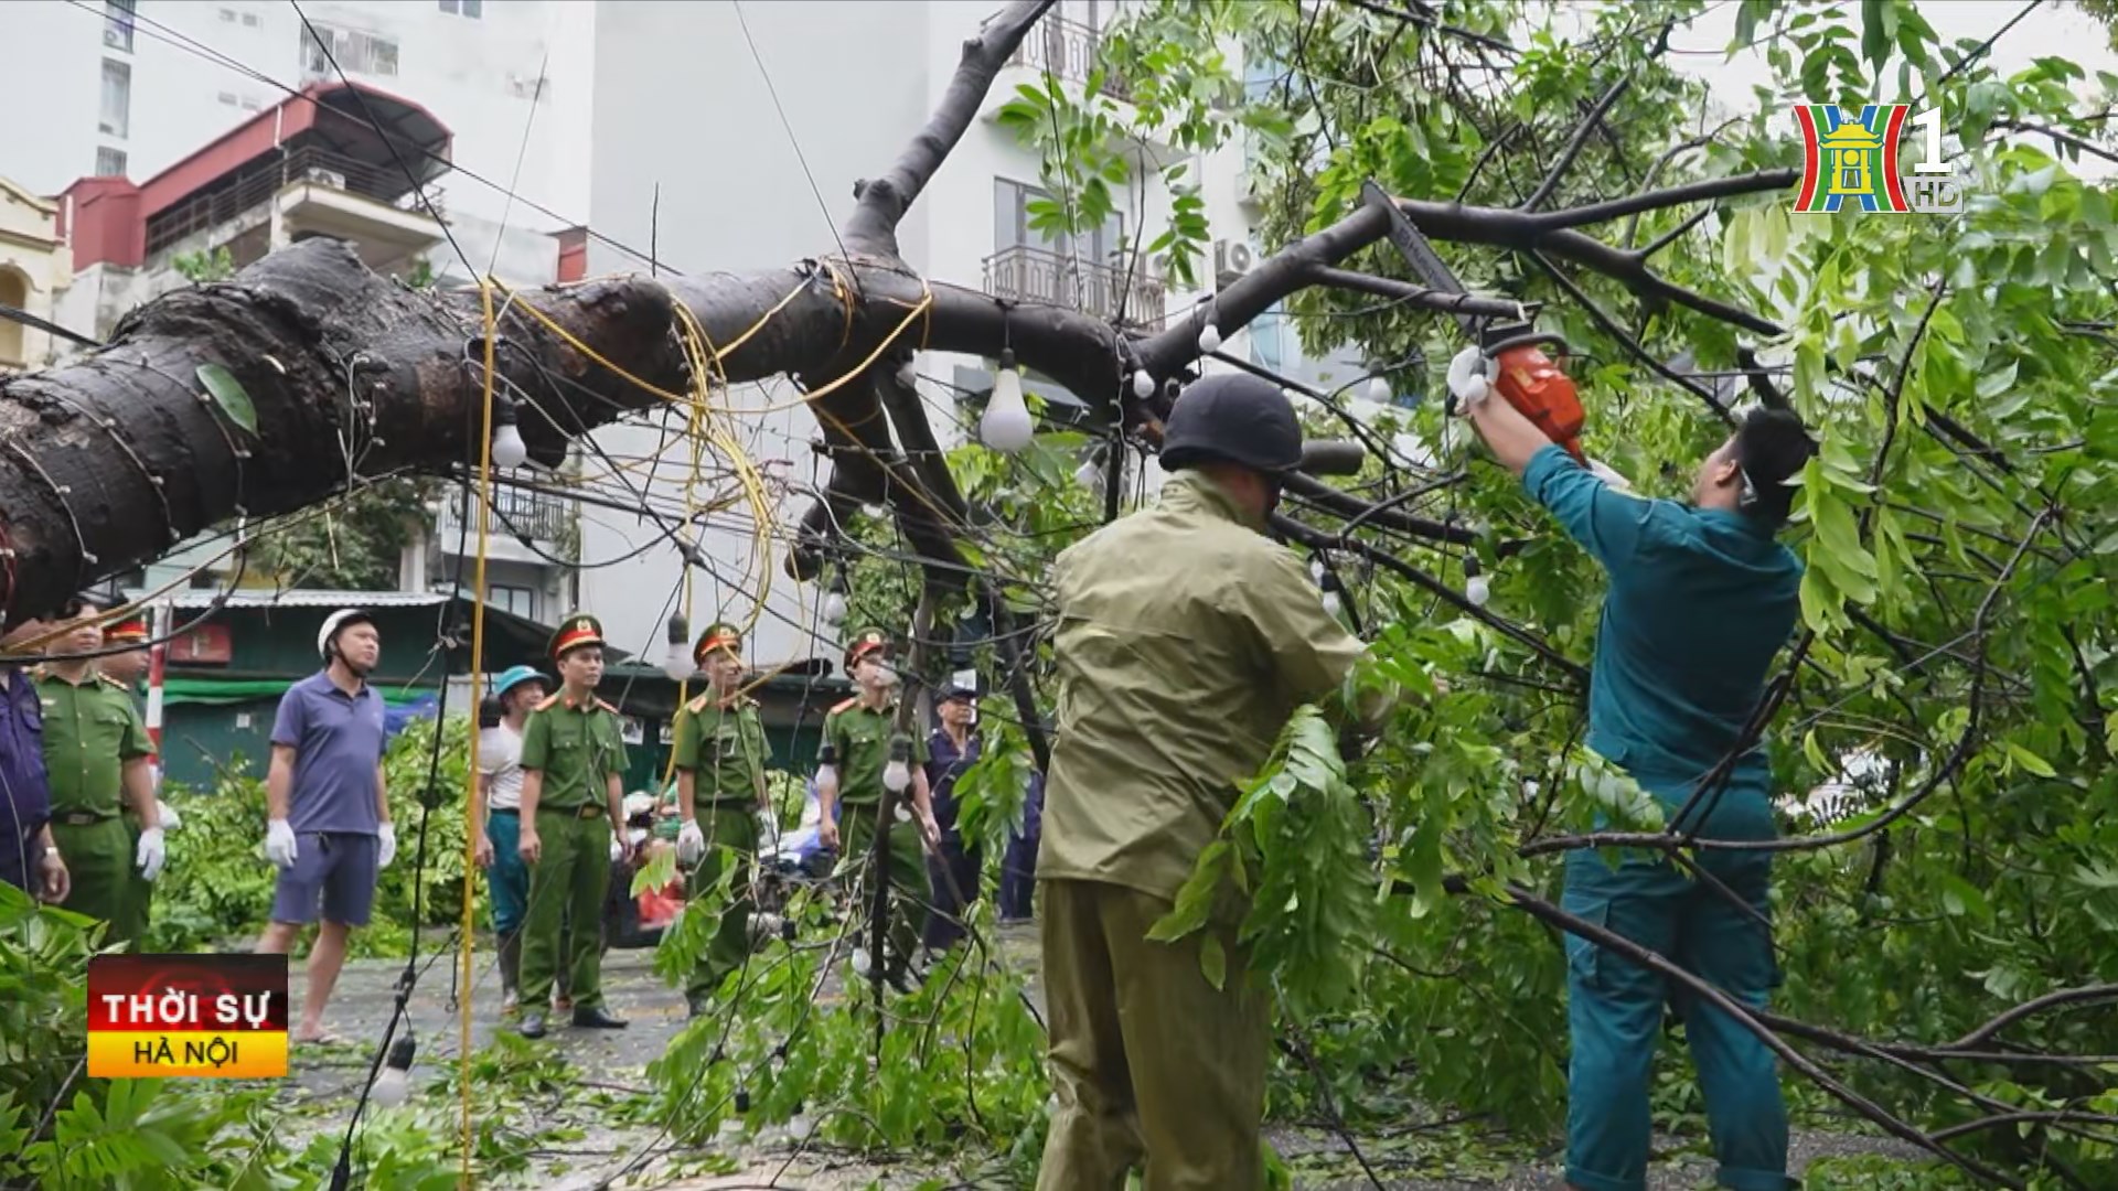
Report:
[[[729,865],[735,865],[735,901],[720,913],[720,930],[684,985],[684,1000],[697,1017],[707,998],[729,973],[750,954],[750,884],[756,871],[762,816],[771,814],[765,793],[765,763],[771,746],[758,701],[746,697],[743,632],[722,621],[710,625],[690,651],[693,663],[705,670],[707,689],[676,712],[676,797],[682,826],[676,837],[676,858],[697,865],[688,896],[699,899],[714,888]]]

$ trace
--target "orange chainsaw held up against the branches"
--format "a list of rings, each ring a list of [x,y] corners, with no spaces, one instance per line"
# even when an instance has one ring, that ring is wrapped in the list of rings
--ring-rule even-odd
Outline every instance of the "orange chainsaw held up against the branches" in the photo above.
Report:
[[[1404,254],[1404,261],[1430,290],[1444,295],[1470,292],[1434,252],[1428,237],[1413,227],[1413,220],[1404,218],[1398,203],[1389,201],[1389,195],[1372,178],[1362,182],[1360,199],[1366,206],[1379,208],[1389,218],[1389,242]],[[1569,456],[1586,464],[1588,458],[1580,445],[1584,422],[1580,396],[1574,392],[1574,381],[1544,354],[1544,348],[1552,348],[1559,356],[1565,356],[1567,341],[1559,335],[1538,331],[1527,320],[1500,326],[1489,326],[1476,314],[1457,314],[1455,320],[1476,352],[1466,352],[1451,362],[1447,409],[1455,411],[1455,390],[1470,377],[1472,369],[1483,367],[1493,392],[1506,398],[1523,417],[1529,417],[1538,430],[1544,430],[1546,439],[1559,443]]]

